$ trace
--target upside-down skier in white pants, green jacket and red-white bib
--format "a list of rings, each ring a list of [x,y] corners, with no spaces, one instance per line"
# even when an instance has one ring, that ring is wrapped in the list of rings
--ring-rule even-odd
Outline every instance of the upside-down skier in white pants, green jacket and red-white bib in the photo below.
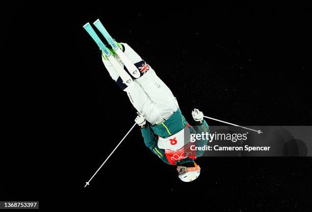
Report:
[[[209,133],[209,126],[203,120],[203,113],[197,109],[192,111],[192,117],[197,125],[195,131],[181,114],[171,90],[155,71],[129,45],[126,43],[117,43],[117,45],[138,68],[140,76],[133,78],[131,84],[125,84],[103,53],[102,61],[113,80],[127,93],[129,100],[138,111],[135,122],[141,128],[145,145],[162,161],[176,166],[181,180],[193,181],[200,174],[200,167],[195,163],[195,159],[203,154],[203,151],[195,151],[194,145],[206,145],[207,140],[192,143],[188,135]],[[109,50],[121,67],[126,69],[116,52]]]

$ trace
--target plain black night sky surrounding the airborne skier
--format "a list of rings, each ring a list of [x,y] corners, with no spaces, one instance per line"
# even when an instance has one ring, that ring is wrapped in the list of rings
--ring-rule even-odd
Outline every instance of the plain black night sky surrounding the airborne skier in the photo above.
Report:
[[[42,208],[70,199],[72,207],[84,208],[113,202],[139,208],[146,201],[159,209],[311,211],[309,157],[202,157],[200,177],[183,183],[144,146],[138,127],[83,188],[136,111],[82,28],[100,18],[117,41],[131,45],[169,86],[190,123],[198,108],[241,125],[311,125],[310,5],[152,3],[119,5],[119,16],[106,2],[62,11],[41,5],[38,14],[22,6],[8,16],[13,33],[4,42],[12,115],[6,127],[19,130],[4,145],[16,150],[2,160],[8,167],[2,199],[39,199]],[[12,27],[17,19],[18,30]],[[17,38],[26,49],[18,62]],[[20,161],[37,168],[14,169]]]

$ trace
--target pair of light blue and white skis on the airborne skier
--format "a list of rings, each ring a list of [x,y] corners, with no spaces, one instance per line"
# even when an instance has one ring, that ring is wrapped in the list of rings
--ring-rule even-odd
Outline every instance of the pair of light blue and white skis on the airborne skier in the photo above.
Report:
[[[105,37],[107,42],[112,46],[113,50],[116,52],[118,57],[120,58],[121,62],[124,64],[124,66],[127,68],[129,73],[134,78],[140,77],[140,71],[138,68],[125,56],[123,51],[119,48],[115,40],[110,36],[110,34],[107,32],[103,24],[99,19],[93,22],[95,27],[98,29],[98,31]],[[84,26],[84,29],[89,33],[89,35],[92,37],[92,39],[95,41],[95,43],[98,45],[98,47],[102,50],[102,52],[105,54],[105,56],[108,58],[108,60],[112,63],[116,71],[118,72],[121,80],[124,84],[127,86],[131,86],[133,84],[132,77],[123,69],[123,67],[120,66],[118,61],[114,58],[114,55],[111,54],[107,46],[101,41],[101,39],[97,36],[96,32],[93,30],[91,24],[88,22]]]

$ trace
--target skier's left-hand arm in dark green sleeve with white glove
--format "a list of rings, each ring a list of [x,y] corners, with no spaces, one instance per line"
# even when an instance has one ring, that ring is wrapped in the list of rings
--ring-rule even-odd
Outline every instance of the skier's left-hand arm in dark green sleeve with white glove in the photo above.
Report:
[[[138,116],[135,121],[141,128],[141,133],[146,147],[148,147],[155,155],[159,156],[165,163],[169,164],[167,158],[165,157],[165,150],[158,148],[158,141],[152,133],[149,124],[146,122],[144,114],[138,112]]]

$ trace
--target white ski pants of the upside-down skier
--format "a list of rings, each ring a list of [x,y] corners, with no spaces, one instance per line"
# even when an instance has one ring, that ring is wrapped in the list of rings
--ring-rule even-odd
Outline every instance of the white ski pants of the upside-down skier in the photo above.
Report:
[[[142,61],[142,58],[129,45],[122,44],[125,48],[124,54],[131,62],[138,63]],[[118,56],[115,57],[123,67]],[[104,59],[102,61],[113,80],[117,81],[119,74],[113,65]],[[179,108],[171,90],[151,67],[144,75],[134,80],[133,86],[127,87],[124,91],[126,91],[135,109],[144,113],[146,120],[152,125],[167,120]]]

